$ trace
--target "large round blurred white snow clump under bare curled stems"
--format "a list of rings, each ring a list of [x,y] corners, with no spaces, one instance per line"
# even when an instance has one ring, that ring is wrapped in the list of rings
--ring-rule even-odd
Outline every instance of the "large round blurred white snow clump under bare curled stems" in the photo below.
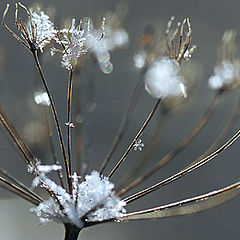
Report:
[[[155,60],[145,75],[145,89],[155,98],[186,97],[183,78],[178,75],[179,65],[168,58]]]

